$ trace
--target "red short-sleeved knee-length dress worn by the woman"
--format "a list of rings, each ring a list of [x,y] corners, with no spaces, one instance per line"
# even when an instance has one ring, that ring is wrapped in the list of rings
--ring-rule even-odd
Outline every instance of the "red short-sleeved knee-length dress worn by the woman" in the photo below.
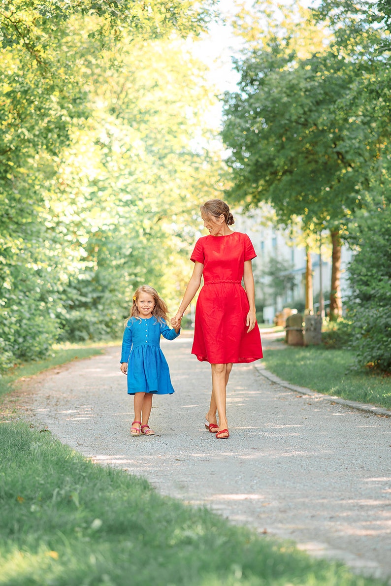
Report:
[[[203,236],[193,262],[203,264],[203,287],[195,315],[192,354],[201,362],[228,364],[262,358],[258,324],[247,333],[249,300],[242,287],[244,261],[256,257],[247,234]]]

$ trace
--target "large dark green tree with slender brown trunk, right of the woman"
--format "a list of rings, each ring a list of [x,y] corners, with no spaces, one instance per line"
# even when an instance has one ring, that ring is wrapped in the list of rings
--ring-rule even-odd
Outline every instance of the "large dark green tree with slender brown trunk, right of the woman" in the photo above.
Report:
[[[365,46],[381,36],[365,31]],[[389,115],[379,123],[369,104],[364,108],[358,71],[365,76],[373,68],[368,53],[353,59],[337,40],[300,58],[290,34],[269,35],[237,63],[240,91],[226,94],[222,132],[231,149],[235,200],[247,206],[267,200],[285,225],[297,216],[305,233],[330,231],[331,317],[342,314],[341,236],[368,197],[368,176],[379,170],[389,122]],[[376,70],[382,67],[376,62]]]

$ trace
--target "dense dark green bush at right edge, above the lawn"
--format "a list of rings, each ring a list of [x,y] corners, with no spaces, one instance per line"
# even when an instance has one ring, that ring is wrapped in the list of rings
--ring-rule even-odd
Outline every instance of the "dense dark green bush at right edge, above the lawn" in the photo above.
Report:
[[[391,373],[390,203],[387,197],[356,222],[356,254],[349,265],[352,347],[360,366],[386,373]]]

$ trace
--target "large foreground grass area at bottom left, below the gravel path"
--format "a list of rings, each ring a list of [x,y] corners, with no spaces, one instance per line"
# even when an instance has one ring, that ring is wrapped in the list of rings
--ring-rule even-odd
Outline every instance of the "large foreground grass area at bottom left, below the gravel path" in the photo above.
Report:
[[[384,584],[159,496],[50,432],[2,423],[0,449],[0,584]]]

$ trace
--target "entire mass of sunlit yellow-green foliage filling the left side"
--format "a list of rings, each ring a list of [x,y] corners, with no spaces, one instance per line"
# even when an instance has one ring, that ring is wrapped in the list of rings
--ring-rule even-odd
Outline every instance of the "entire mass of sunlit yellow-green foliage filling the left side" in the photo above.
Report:
[[[220,162],[192,145],[209,98],[181,42],[212,0],[0,4],[1,371],[118,335],[142,282],[172,299]]]

